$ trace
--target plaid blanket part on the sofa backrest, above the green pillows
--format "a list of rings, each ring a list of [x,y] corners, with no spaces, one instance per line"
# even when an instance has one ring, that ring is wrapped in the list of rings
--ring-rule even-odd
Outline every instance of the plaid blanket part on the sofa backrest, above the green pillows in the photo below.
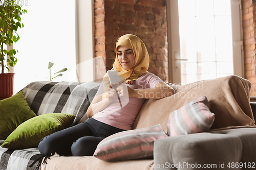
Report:
[[[68,113],[76,116],[77,124],[86,113],[100,83],[32,82],[23,91],[36,115]]]

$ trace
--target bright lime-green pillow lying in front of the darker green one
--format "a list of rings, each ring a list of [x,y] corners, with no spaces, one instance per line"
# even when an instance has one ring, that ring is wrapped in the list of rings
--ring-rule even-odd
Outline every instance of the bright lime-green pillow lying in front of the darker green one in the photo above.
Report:
[[[65,113],[47,113],[33,117],[19,125],[2,144],[2,148],[37,148],[40,140],[47,135],[72,125],[75,116]]]

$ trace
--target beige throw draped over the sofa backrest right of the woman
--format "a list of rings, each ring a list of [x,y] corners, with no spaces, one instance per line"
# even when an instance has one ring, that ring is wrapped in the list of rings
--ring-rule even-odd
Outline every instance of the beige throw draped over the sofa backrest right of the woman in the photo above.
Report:
[[[176,94],[160,100],[146,100],[135,120],[133,129],[161,124],[167,131],[170,112],[206,96],[215,121],[210,130],[255,127],[250,107],[251,83],[238,76],[203,80],[186,85],[172,86]]]

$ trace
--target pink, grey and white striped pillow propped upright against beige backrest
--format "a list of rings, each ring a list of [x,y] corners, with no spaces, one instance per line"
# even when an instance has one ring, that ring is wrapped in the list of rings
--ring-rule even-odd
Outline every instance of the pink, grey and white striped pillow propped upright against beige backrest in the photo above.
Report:
[[[202,96],[170,113],[167,134],[177,136],[207,132],[215,118],[215,114],[211,113],[208,107],[206,96]]]

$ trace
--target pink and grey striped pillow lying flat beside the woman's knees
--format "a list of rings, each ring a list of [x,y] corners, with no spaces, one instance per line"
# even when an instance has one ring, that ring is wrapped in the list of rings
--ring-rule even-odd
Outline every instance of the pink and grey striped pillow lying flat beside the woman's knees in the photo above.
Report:
[[[119,132],[103,139],[93,156],[104,161],[153,158],[154,141],[164,137],[161,125]]]

